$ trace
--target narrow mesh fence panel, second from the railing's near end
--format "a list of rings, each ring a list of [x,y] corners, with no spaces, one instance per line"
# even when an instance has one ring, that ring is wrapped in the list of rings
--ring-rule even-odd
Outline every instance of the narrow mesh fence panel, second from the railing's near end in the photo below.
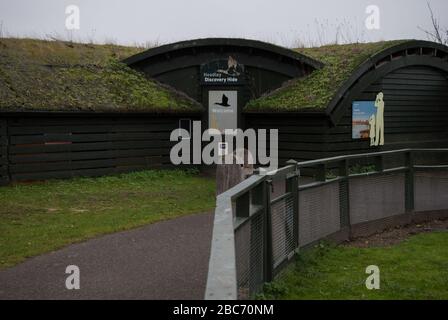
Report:
[[[294,251],[294,210],[293,196],[271,205],[272,251],[274,268],[281,264]]]

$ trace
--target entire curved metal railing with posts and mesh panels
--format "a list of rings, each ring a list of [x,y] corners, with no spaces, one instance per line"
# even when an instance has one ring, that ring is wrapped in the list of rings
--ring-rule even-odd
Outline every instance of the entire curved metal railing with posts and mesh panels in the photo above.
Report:
[[[264,281],[278,276],[283,262],[292,257],[297,235],[299,247],[305,247],[328,236],[343,241],[349,235],[368,235],[386,226],[413,221],[414,217],[443,216],[448,210],[448,170],[440,164],[440,157],[433,159],[430,154],[425,156],[435,165],[425,162],[415,166],[414,155],[418,152],[423,151],[372,153],[367,157],[370,162],[365,161],[368,167],[355,168],[361,171],[352,169],[359,165],[351,162],[353,156],[303,162],[280,169],[272,178],[254,176],[249,178],[253,181],[232,188],[232,195],[226,194],[217,202],[222,207],[217,206],[216,212],[220,217],[222,210],[233,212],[233,225],[226,221],[223,226],[234,228],[234,237],[228,236],[230,229],[221,228],[217,229],[221,231],[217,239],[221,243],[227,239],[230,245],[223,247],[234,248],[235,252],[221,250],[227,253],[226,260],[216,258],[210,264],[214,269],[209,269],[206,296],[234,298],[237,294],[238,299],[253,298]],[[315,177],[298,177],[303,166],[314,166]],[[413,209],[427,214],[405,214]],[[431,212],[439,210],[444,212]],[[215,257],[222,257],[216,248],[213,252]],[[229,267],[223,261],[231,261]],[[221,274],[226,270],[231,272],[223,278]]]

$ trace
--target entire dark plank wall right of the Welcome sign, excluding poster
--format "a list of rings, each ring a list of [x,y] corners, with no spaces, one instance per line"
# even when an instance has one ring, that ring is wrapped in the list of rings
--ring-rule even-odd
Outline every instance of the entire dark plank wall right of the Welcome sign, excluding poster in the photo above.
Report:
[[[430,67],[398,69],[370,85],[355,100],[384,93],[385,145],[352,139],[352,108],[330,127],[324,113],[245,114],[246,128],[278,128],[280,163],[340,154],[402,148],[448,147],[448,79]]]

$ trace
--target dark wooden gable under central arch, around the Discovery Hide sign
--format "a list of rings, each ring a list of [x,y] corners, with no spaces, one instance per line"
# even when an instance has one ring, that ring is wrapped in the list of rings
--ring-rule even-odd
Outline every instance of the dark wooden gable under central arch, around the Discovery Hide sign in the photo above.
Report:
[[[203,100],[203,91],[207,86],[200,83],[200,66],[214,60],[227,60],[229,56],[245,66],[247,83],[243,88],[248,92],[248,97],[244,104],[280,87],[287,80],[303,77],[314,70],[305,63],[272,52],[233,46],[179,50],[131,66],[207,106],[208,100]],[[226,86],[221,86],[221,90],[226,90]]]

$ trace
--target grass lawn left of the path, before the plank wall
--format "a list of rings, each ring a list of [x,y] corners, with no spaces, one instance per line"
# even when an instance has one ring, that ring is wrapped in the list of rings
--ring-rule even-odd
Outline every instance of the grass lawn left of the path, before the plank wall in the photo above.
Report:
[[[211,210],[215,181],[149,170],[0,187],[0,268],[100,234]]]

